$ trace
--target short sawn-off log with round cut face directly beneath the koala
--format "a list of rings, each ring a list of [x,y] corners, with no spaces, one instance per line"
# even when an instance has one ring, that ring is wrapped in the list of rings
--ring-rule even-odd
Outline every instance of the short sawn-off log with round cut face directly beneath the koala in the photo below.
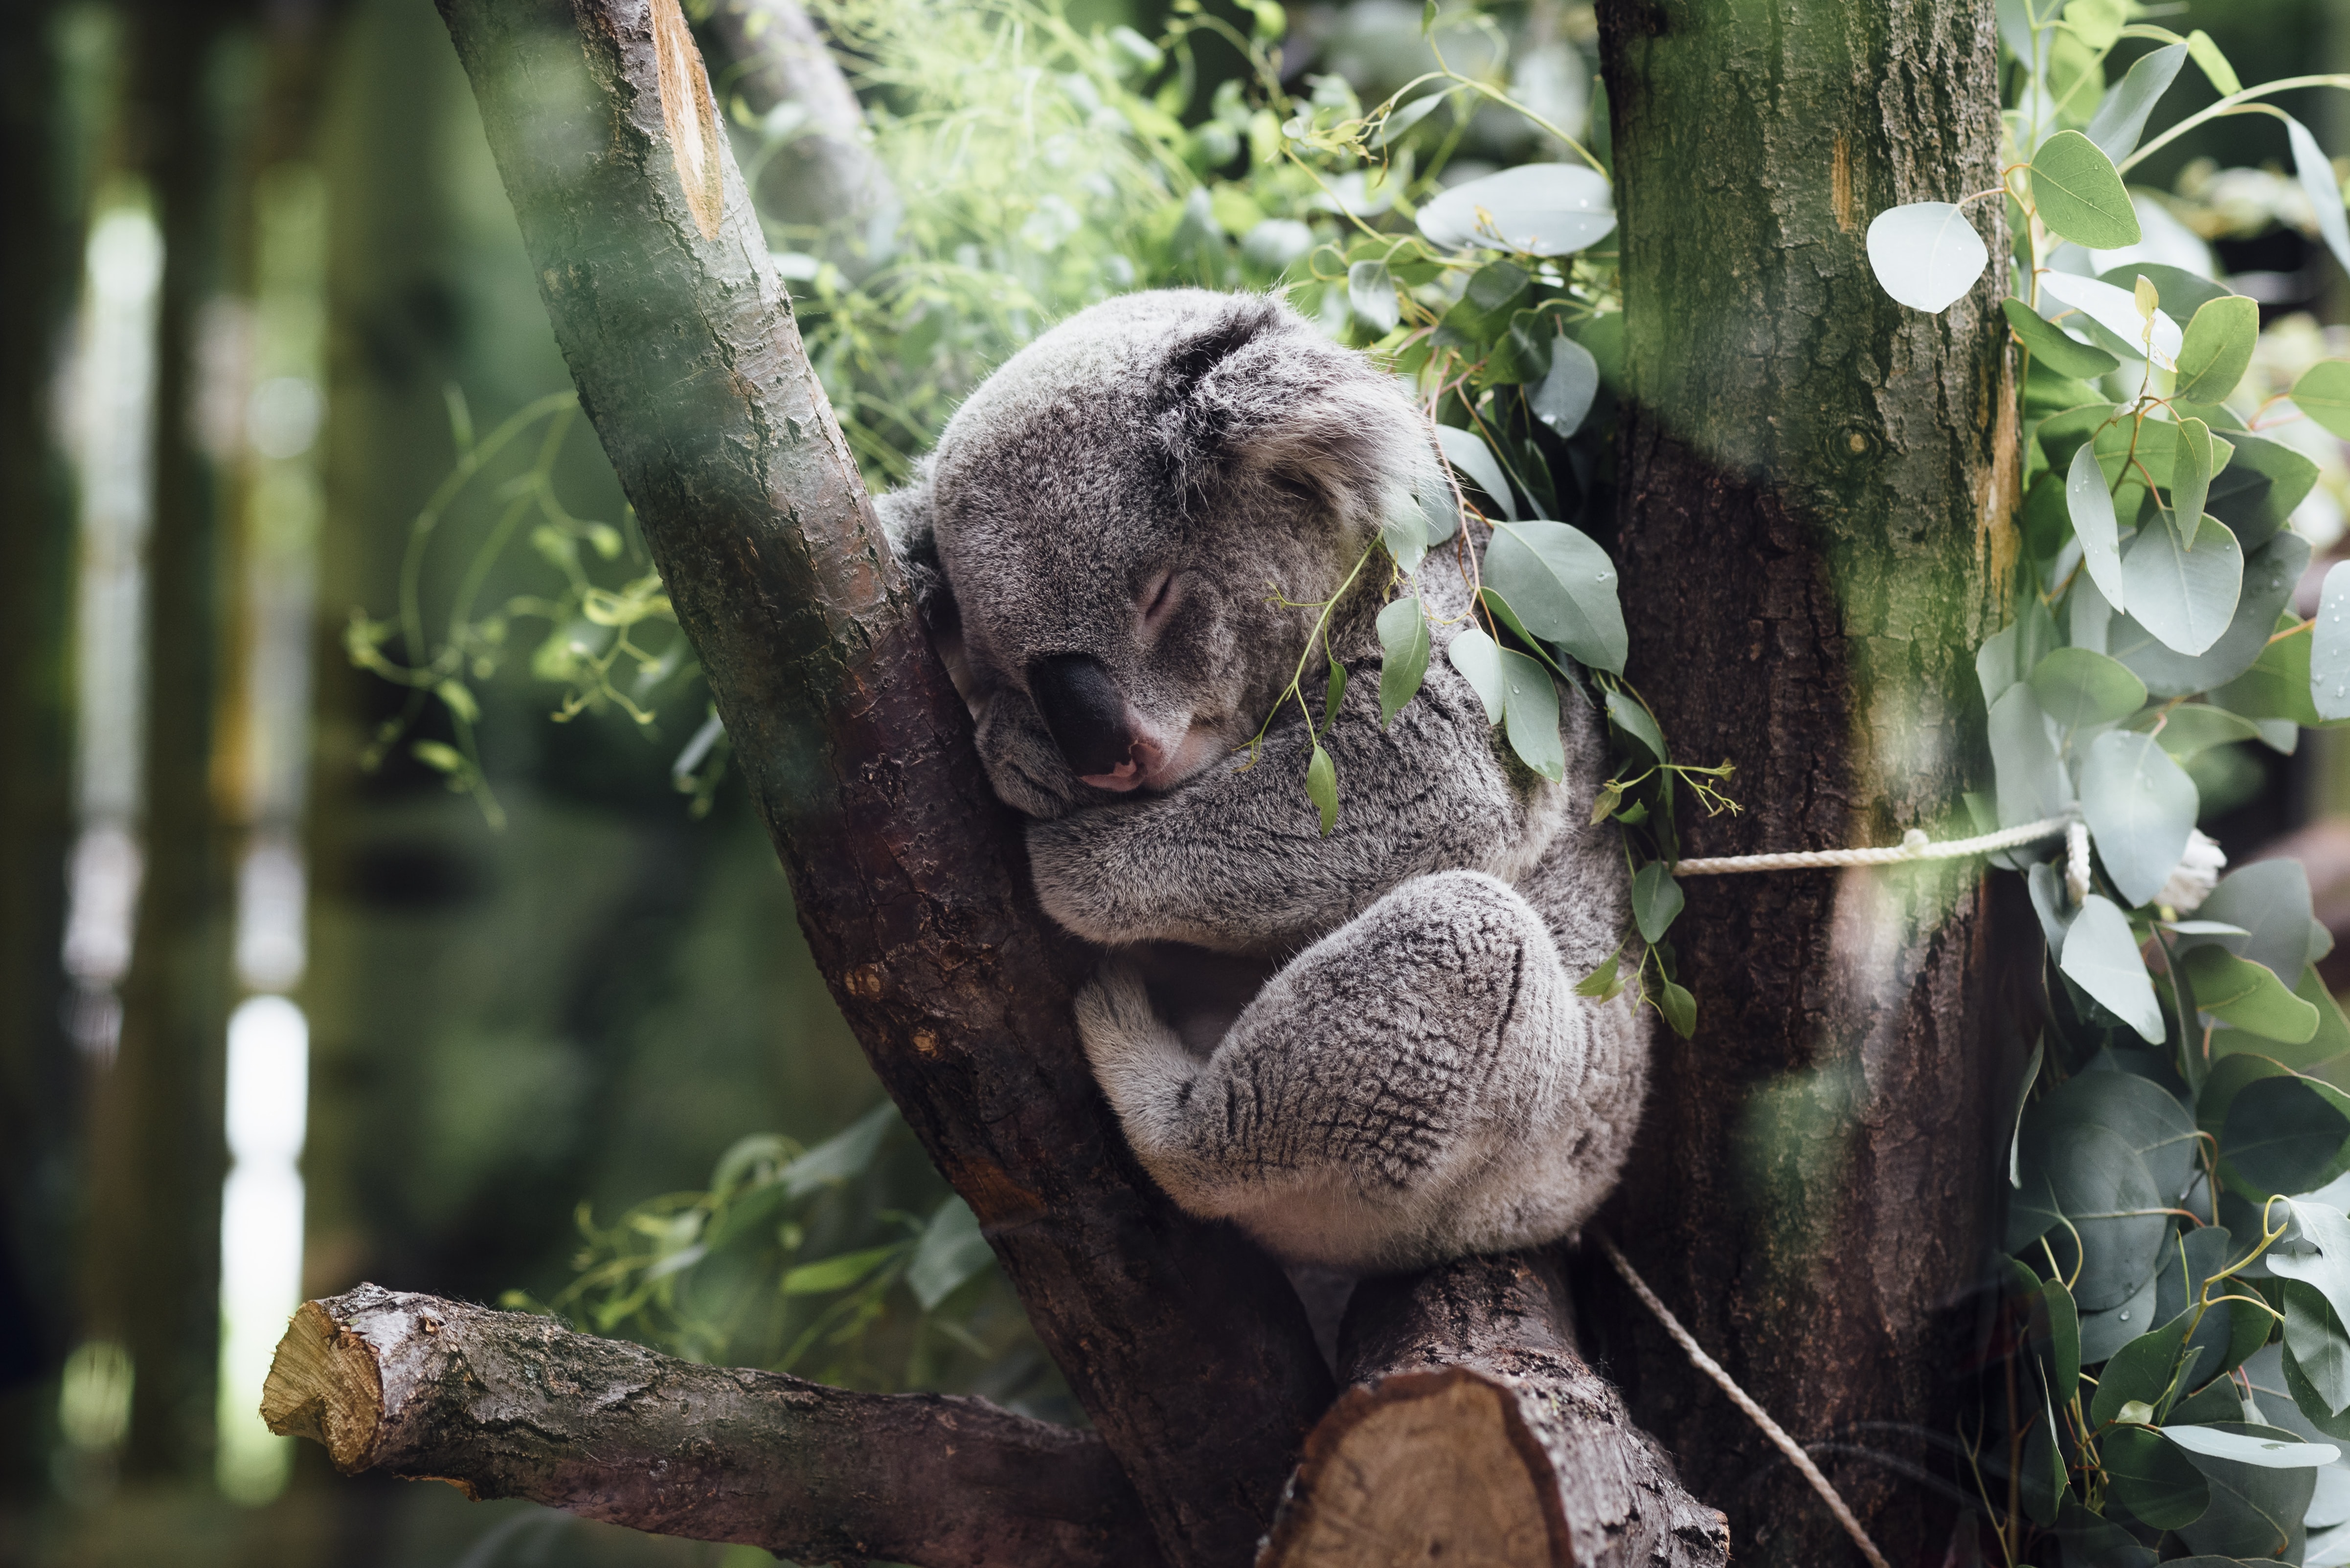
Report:
[[[1544,1253],[1365,1282],[1260,1568],[1716,1568],[1730,1528],[1574,1350]]]

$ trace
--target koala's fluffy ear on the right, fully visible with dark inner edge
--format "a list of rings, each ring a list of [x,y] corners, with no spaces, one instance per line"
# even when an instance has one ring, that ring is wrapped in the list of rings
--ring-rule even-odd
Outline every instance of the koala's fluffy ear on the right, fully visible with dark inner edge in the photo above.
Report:
[[[1159,441],[1187,488],[1309,491],[1349,528],[1377,528],[1398,493],[1441,481],[1403,385],[1278,300],[1231,296],[1161,376]]]

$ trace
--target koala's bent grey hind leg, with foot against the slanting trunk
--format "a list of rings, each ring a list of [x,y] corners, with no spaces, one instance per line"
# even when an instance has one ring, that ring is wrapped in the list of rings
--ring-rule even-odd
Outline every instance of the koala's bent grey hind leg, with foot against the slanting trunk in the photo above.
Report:
[[[1316,941],[1206,1059],[1126,965],[1076,1019],[1135,1155],[1184,1209],[1349,1270],[1572,1228],[1574,1099],[1593,1040],[1626,1033],[1572,995],[1532,906],[1476,871],[1412,878]]]

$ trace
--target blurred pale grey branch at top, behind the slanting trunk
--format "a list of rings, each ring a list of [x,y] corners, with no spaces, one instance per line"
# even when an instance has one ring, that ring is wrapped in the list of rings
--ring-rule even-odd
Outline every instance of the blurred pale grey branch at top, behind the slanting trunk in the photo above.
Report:
[[[792,138],[757,174],[766,216],[822,235],[825,254],[851,277],[870,272],[898,225],[898,188],[865,136],[865,110],[825,35],[799,0],[719,0],[710,12],[733,66],[719,96],[743,94],[754,115],[792,103]]]

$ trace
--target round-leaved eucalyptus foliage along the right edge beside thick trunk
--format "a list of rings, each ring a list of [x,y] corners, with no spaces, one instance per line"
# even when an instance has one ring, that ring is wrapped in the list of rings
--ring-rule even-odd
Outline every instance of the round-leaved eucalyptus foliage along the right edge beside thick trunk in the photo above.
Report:
[[[2136,242],[2127,169],[2204,120],[2275,113],[2277,85],[2247,92],[2202,33],[2101,0],[2002,2],[2000,23],[2009,178],[1960,207],[2005,195],[2021,218],[2002,310],[2026,505],[2014,622],[1976,671],[2000,822],[2070,829],[2016,857],[2052,960],[2047,1033],[2009,1171],[2016,1359],[1969,1453],[2009,1561],[2350,1561],[2350,1467],[2326,1441],[2350,1434],[2350,1023],[2312,967],[2331,939],[2303,869],[2214,885],[2188,772],[2350,716],[2350,629],[2329,620],[2350,580],[2312,622],[2287,610],[2310,552],[2284,521],[2317,472],[2254,434],[2277,418],[2247,385],[2254,300],[2059,256]],[[2106,87],[2122,38],[2160,47]],[[2225,96],[2141,148],[2188,59]],[[2287,138],[2350,265],[2331,167],[2291,120]],[[1974,286],[1988,256],[1958,277],[1960,207],[1871,225],[1887,293],[1941,310]],[[2294,392],[2350,425],[2350,364]]]

